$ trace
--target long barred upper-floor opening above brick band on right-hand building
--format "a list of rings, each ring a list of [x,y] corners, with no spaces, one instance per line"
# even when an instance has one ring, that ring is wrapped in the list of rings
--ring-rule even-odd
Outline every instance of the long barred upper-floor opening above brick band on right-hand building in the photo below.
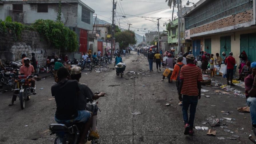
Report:
[[[198,10],[186,15],[185,27],[192,29],[253,8],[253,0],[209,0]]]

